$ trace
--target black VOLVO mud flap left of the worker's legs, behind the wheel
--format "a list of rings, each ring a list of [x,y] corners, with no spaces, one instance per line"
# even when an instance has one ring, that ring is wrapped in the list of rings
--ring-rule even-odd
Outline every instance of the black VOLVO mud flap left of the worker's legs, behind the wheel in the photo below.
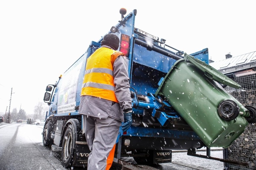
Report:
[[[75,142],[75,154],[73,159],[73,166],[83,166],[87,167],[88,156],[90,154],[90,149],[87,145],[87,142]]]

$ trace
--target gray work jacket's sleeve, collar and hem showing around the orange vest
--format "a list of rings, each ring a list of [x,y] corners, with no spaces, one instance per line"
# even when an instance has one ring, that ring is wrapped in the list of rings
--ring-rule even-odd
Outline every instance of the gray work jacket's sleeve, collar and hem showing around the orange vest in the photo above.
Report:
[[[102,47],[108,47],[103,45]],[[108,47],[110,48],[110,47]],[[132,108],[126,57],[119,56],[113,64],[114,93],[119,103],[89,95],[81,96],[79,114],[98,118],[123,120],[123,110]]]

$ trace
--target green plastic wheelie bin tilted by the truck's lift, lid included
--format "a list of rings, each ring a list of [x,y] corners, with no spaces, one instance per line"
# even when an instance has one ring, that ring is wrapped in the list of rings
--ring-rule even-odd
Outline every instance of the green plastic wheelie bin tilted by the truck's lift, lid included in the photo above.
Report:
[[[163,95],[207,147],[227,148],[245,130],[249,111],[221,84],[241,88],[218,70],[184,54],[160,83]]]

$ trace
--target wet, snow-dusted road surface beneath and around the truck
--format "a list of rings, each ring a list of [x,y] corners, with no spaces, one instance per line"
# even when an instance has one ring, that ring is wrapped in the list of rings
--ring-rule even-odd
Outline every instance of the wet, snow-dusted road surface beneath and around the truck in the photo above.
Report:
[[[53,145],[45,148],[42,144],[43,125],[23,123],[0,124],[0,170],[66,170],[83,168],[65,168],[61,162],[61,148]],[[205,151],[197,152],[205,155]],[[211,151],[212,157],[222,158],[222,151]],[[133,158],[130,159],[131,162]],[[198,157],[187,156],[186,152],[174,152],[172,163],[155,166],[162,170],[218,170],[223,163]],[[113,164],[111,170],[121,169]]]

